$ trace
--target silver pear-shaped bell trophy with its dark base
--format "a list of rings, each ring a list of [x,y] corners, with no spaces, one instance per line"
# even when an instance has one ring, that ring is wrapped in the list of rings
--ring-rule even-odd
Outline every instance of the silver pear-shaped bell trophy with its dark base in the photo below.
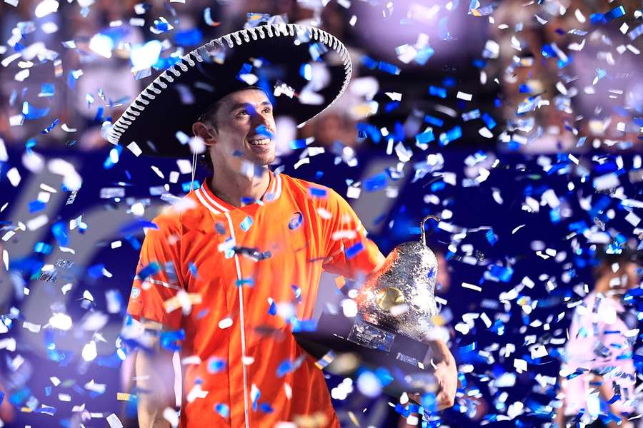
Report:
[[[384,265],[371,275],[355,297],[358,315],[324,310],[314,331],[294,332],[299,345],[311,355],[335,359],[327,370],[352,375],[359,367],[386,368],[392,381],[384,391],[435,391],[432,367],[424,360],[430,352],[426,335],[438,314],[434,289],[437,258],[427,247],[422,220],[419,241],[402,243],[392,250]],[[349,357],[349,358],[347,358]],[[350,364],[346,362],[350,361]]]

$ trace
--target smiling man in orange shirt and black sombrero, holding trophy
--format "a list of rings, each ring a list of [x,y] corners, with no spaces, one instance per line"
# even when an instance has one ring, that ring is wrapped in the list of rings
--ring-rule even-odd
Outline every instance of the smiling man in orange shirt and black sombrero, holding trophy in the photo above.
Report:
[[[185,154],[184,148],[171,148],[162,140],[174,135],[171,126],[185,129],[189,124],[196,141],[206,146],[214,170],[199,189],[154,219],[157,229],[148,231],[141,248],[128,312],[146,330],[158,332],[157,340],[145,343],[147,352],[136,355],[141,427],[169,426],[172,412],[167,408],[175,404],[171,358],[179,345],[184,372],[181,427],[273,427],[279,422],[339,427],[321,370],[291,332],[311,317],[321,270],[369,275],[384,256],[334,190],[273,173],[269,165],[275,158],[274,102],[305,118],[327,106],[301,103],[307,83],[297,86],[296,76],[301,63],[310,61],[311,46],[327,44],[324,49],[333,49],[344,61],[339,81],[331,77],[326,87],[326,99],[342,93],[350,62],[344,46],[319,30],[264,27],[269,27],[262,29],[266,34],[281,30],[281,36],[264,41],[255,39],[253,31],[233,35],[227,39],[233,49],[226,50],[226,67],[211,63],[199,68],[194,63],[175,74],[181,84],[191,85],[191,99],[196,100],[189,108],[172,111],[178,123],[154,123],[148,111],[162,110],[161,100],[167,99],[159,91],[144,108],[130,110],[139,113],[134,119],[126,115],[114,126],[114,142],[131,148],[131,142],[151,134],[159,138],[144,149],[167,155]],[[256,34],[259,29],[254,29]],[[305,43],[289,43],[293,39]],[[234,46],[235,40],[241,44]],[[271,56],[274,52],[278,55]],[[265,83],[263,64],[275,66],[281,60],[288,68],[294,63],[293,74],[281,68],[279,76],[299,94],[294,98],[301,104],[289,103],[289,98],[271,100],[265,84],[248,84],[257,79],[248,78],[255,69],[245,67],[245,61],[259,54],[259,84]],[[199,79],[204,77],[224,89],[212,85],[209,97],[199,101],[204,87]],[[239,81],[245,83],[239,86]],[[289,109],[292,105],[296,108]],[[137,134],[142,124],[149,129]],[[138,143],[136,148],[141,149]],[[457,373],[444,343],[436,342],[434,349],[442,386],[439,401],[447,407],[453,404]]]

